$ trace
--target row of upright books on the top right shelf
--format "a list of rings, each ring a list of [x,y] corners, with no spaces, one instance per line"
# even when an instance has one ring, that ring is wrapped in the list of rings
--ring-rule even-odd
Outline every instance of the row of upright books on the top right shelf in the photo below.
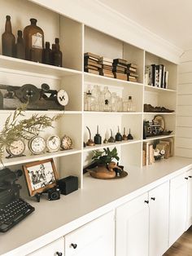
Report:
[[[151,64],[145,67],[146,84],[159,88],[168,88],[168,71],[163,64]]]

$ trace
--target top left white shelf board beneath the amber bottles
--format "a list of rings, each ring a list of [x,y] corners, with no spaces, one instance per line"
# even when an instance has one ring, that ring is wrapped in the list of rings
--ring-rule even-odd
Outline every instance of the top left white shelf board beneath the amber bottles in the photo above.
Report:
[[[60,68],[52,65],[36,63],[28,60],[20,60],[16,58],[0,55],[1,68],[9,68],[28,73],[44,74],[46,76],[66,77],[81,74],[81,71],[70,68]]]

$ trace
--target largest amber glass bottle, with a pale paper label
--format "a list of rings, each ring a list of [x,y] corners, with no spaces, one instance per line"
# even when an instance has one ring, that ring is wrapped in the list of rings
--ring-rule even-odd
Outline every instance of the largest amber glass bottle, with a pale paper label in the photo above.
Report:
[[[42,62],[44,33],[37,27],[37,20],[30,19],[31,24],[24,28],[25,58],[35,62]]]

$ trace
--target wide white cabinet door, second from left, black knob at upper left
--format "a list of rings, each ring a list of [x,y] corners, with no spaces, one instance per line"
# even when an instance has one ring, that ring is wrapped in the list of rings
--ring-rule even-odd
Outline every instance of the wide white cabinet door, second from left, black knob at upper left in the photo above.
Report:
[[[65,256],[115,256],[114,212],[65,236]]]

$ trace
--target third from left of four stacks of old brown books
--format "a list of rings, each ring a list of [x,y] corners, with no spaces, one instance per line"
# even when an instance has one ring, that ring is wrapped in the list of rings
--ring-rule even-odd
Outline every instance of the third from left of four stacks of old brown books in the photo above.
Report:
[[[122,80],[128,80],[127,77],[127,66],[128,66],[128,61],[123,60],[123,59],[114,59],[113,60],[113,73],[114,77],[117,79],[122,79]]]

